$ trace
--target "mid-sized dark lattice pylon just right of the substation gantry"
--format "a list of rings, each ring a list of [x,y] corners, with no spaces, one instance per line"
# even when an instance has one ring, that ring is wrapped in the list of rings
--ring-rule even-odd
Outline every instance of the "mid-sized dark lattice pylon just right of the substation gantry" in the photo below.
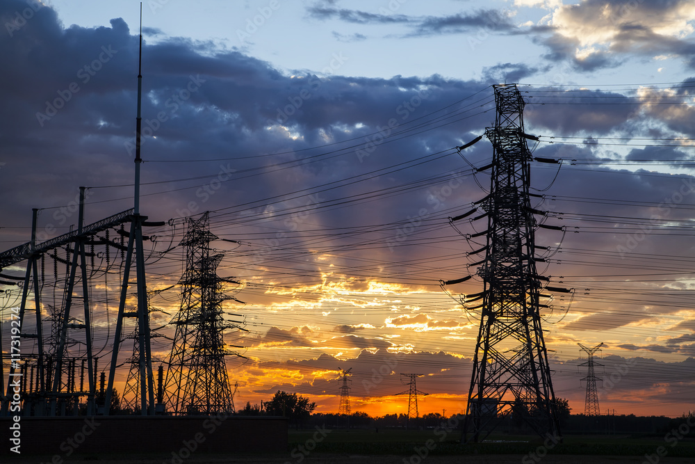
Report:
[[[210,242],[217,240],[209,230],[208,213],[199,219],[187,218],[188,230],[181,241],[186,248],[186,270],[181,309],[174,320],[176,331],[164,385],[166,406],[173,415],[234,413],[234,399],[227,374],[224,330],[239,328],[224,319],[217,267],[221,253],[211,254]],[[244,330],[244,329],[241,329]]]

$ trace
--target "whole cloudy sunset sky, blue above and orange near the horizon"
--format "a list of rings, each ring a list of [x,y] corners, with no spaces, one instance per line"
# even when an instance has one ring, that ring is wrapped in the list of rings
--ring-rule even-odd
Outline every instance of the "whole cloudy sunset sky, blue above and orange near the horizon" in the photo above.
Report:
[[[407,413],[416,373],[420,415],[464,411],[480,313],[460,298],[482,280],[440,281],[482,259],[486,219],[448,218],[486,195],[492,147],[455,147],[494,124],[491,85],[518,83],[534,157],[563,160],[531,168],[564,227],[537,231],[539,273],[573,289],[543,292],[556,396],[583,412],[578,343],[603,342],[601,410],[695,409],[695,3],[143,3],[141,211],[168,221],[146,232],[148,287],[179,281],[183,218],[211,211],[249,331],[227,334],[248,358],[228,362],[237,408],[286,390],[336,411],[352,368],[352,410]],[[132,206],[139,4],[0,3],[0,250],[29,240],[32,208],[40,240],[70,230],[79,186],[87,223]],[[117,273],[92,284],[101,370]],[[153,297],[161,335],[178,291]]]

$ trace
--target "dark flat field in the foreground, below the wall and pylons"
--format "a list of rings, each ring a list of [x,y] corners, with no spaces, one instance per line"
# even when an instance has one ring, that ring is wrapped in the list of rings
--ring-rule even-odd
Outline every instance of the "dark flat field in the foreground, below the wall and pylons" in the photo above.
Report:
[[[117,454],[3,456],[3,463],[218,464],[685,464],[695,463],[695,440],[673,435],[566,435],[562,443],[524,435],[491,436],[489,442],[459,443],[460,433],[434,431],[319,430],[290,431],[288,449],[268,453],[205,454],[181,449],[147,453],[146,444],[124,443]],[[140,450],[136,448],[140,446]],[[57,450],[56,450],[57,451]]]

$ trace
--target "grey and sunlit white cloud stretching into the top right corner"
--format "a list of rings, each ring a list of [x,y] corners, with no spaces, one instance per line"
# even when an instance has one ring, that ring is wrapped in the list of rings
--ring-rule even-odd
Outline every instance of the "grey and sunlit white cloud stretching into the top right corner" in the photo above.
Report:
[[[334,19],[349,24],[402,24],[410,32],[404,38],[471,33],[528,35],[546,47],[549,63],[566,61],[578,72],[595,72],[623,64],[631,55],[680,56],[693,67],[695,44],[684,38],[687,22],[695,17],[688,0],[584,0],[559,6],[547,24],[520,27],[507,10],[484,9],[455,15],[407,16],[398,8],[379,8],[371,13],[338,8],[336,3],[307,8],[313,19]],[[475,40],[471,38],[471,40]]]

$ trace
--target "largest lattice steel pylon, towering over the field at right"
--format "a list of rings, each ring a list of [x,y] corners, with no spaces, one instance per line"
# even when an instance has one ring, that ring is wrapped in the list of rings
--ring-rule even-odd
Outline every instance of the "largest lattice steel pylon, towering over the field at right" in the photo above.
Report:
[[[534,259],[537,223],[530,205],[531,153],[523,127],[523,98],[514,84],[493,86],[495,127],[491,189],[479,204],[488,215],[480,330],[462,441],[482,440],[510,414],[534,431],[559,435],[555,394],[539,312]]]

